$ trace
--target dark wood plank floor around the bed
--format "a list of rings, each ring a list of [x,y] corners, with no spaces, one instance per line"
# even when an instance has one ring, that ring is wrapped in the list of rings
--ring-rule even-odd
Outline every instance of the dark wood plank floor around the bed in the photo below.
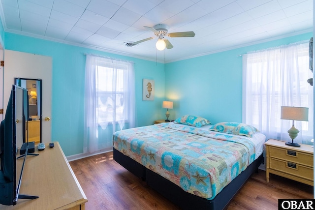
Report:
[[[104,153],[70,165],[87,198],[86,210],[177,210],[178,208]],[[278,199],[313,199],[313,186],[259,170],[237,193],[227,210],[277,210]]]

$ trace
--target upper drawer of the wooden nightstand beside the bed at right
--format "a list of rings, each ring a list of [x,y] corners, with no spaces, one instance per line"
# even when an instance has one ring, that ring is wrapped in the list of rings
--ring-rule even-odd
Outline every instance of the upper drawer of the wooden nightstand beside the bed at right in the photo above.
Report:
[[[270,157],[275,157],[277,159],[282,159],[313,168],[313,154],[308,154],[297,150],[270,147]]]

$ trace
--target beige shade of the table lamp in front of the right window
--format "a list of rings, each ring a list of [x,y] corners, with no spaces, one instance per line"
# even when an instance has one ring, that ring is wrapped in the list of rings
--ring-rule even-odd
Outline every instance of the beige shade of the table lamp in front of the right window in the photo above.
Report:
[[[282,120],[300,120],[309,121],[309,108],[308,107],[281,107]]]

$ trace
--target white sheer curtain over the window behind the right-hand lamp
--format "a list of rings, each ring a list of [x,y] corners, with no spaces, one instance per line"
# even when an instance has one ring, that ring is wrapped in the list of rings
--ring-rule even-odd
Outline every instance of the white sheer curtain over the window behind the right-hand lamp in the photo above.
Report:
[[[281,106],[309,107],[309,121],[294,121],[296,143],[313,139],[313,78],[308,43],[294,43],[243,56],[243,122],[267,139],[290,141],[292,120],[281,120]]]

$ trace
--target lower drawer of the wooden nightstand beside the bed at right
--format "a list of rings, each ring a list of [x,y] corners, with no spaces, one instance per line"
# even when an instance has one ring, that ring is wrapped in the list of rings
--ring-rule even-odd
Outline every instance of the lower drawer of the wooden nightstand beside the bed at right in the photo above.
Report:
[[[305,180],[313,180],[313,168],[289,161],[270,158],[269,168]]]

